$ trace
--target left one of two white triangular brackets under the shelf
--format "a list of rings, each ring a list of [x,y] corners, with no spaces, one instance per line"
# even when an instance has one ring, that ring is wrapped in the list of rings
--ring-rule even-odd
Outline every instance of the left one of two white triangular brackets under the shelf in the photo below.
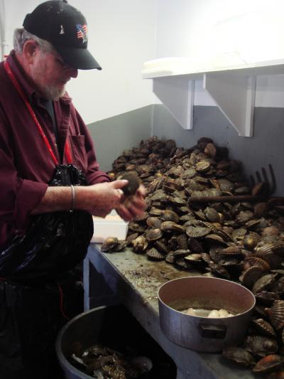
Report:
[[[193,129],[194,80],[177,76],[154,78],[153,92],[183,129]]]

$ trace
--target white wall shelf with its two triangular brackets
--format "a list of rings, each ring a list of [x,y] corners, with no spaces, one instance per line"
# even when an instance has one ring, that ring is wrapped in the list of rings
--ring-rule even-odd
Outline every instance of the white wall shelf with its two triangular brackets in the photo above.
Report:
[[[256,76],[283,75],[284,59],[241,65],[207,65],[188,58],[150,60],[144,79],[153,79],[153,92],[184,129],[192,129],[194,81],[217,103],[240,136],[253,137]]]

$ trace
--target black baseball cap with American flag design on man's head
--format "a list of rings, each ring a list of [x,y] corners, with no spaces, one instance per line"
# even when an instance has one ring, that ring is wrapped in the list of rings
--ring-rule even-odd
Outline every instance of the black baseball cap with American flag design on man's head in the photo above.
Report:
[[[87,21],[65,0],[41,3],[23,21],[26,31],[50,42],[65,63],[73,68],[102,70],[89,50]]]

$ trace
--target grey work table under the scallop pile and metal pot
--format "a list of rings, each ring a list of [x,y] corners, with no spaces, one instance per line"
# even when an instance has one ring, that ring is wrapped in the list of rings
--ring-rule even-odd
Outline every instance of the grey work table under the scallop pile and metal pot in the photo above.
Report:
[[[221,354],[197,353],[172,343],[160,330],[157,292],[170,279],[198,275],[179,271],[167,262],[151,262],[131,250],[104,253],[89,245],[84,260],[84,308],[124,304],[143,328],[173,358],[177,379],[251,379],[251,370],[224,360]],[[157,378],[158,379],[158,378]]]

